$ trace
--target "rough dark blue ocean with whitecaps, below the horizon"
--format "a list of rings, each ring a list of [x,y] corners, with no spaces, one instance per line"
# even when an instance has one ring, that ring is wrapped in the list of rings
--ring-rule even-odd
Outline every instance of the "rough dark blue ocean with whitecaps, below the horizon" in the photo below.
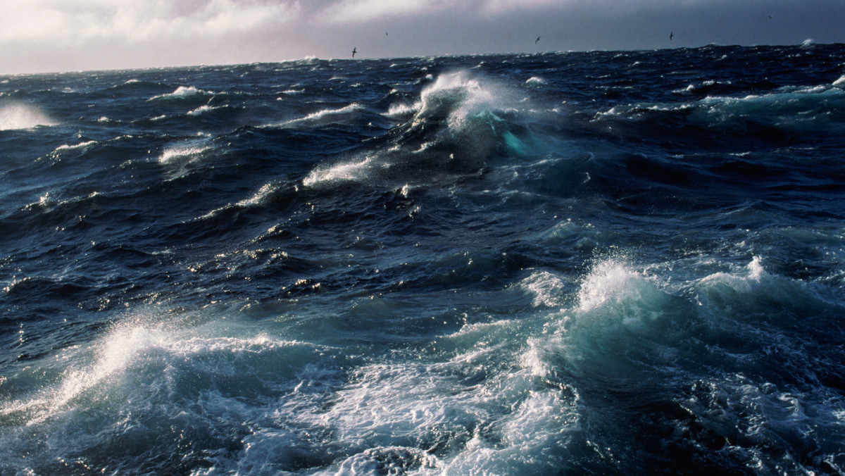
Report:
[[[845,473],[845,45],[0,77],[0,474]]]

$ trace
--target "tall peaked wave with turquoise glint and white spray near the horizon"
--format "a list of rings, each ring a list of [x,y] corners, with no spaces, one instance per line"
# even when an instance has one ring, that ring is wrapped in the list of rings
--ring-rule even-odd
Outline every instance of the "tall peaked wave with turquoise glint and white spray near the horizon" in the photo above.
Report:
[[[510,90],[465,71],[441,74],[412,106],[393,105],[384,114],[414,112],[384,135],[388,143],[379,151],[317,167],[303,184],[368,180],[401,186],[477,174],[494,156],[520,155],[528,149],[521,140],[525,129],[518,102]]]

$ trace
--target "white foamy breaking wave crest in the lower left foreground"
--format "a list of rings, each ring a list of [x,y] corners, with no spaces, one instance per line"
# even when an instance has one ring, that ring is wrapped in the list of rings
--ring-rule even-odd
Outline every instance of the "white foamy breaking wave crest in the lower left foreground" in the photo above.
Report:
[[[285,356],[295,356],[300,350],[309,353],[313,349],[308,343],[260,334],[215,336],[218,328],[213,323],[206,328],[179,329],[128,320],[93,346],[63,349],[55,362],[68,366],[58,375],[58,380],[42,381],[41,390],[30,397],[0,402],[0,415],[18,415],[27,425],[41,424],[63,413],[72,418],[75,409],[100,402],[106,406],[115,402],[123,405],[118,396],[126,391],[144,399],[125,402],[129,408],[142,408],[158,398],[159,391],[177,391],[170,387],[178,380],[191,380],[197,375],[226,380],[238,375],[233,362],[243,362],[262,371],[261,360],[254,360],[256,355],[281,352]],[[44,368],[50,368],[50,365],[46,364]],[[140,388],[134,387],[138,379],[143,382]]]

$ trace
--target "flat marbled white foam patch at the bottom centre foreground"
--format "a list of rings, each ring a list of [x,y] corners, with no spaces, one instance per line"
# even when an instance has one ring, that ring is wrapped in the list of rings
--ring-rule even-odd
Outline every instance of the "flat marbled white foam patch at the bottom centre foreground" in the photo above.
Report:
[[[364,366],[335,393],[327,412],[299,413],[300,424],[330,429],[358,455],[368,448],[436,444],[449,457],[415,464],[437,473],[553,466],[556,459],[545,454],[549,441],[565,442],[580,428],[575,392],[537,388],[526,370],[494,370],[488,367],[494,352],[435,364]],[[340,468],[369,468],[368,459],[347,458]],[[335,470],[342,473],[340,468]]]

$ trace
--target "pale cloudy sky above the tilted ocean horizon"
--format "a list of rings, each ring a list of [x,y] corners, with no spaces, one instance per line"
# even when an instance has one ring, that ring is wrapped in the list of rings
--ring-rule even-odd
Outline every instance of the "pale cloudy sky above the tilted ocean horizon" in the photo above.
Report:
[[[361,59],[845,42],[845,0],[0,0],[0,8],[0,74],[351,58],[353,47]]]

